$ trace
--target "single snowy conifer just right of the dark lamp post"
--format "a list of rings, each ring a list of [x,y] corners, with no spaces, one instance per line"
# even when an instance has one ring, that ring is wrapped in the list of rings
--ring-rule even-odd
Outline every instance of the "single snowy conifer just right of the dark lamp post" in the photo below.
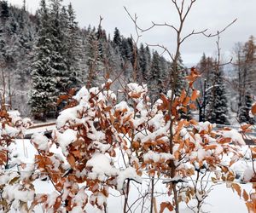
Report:
[[[223,80],[223,70],[217,65],[212,73],[212,83],[207,88],[206,119],[212,124],[230,124]]]

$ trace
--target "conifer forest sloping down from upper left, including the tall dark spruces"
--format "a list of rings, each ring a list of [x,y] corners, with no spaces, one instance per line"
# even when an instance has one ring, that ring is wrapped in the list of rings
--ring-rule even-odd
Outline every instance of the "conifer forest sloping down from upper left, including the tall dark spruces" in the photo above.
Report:
[[[81,85],[90,88],[117,75],[127,84],[135,60],[137,81],[158,78],[157,87],[156,79],[148,87],[154,87],[152,96],[162,92],[170,67],[163,56],[143,44],[134,47],[132,37],[122,36],[118,28],[113,38],[101,25],[79,28],[72,4],[42,0],[35,15],[6,1],[0,2],[0,9],[1,84],[8,87],[4,103],[19,107],[22,114],[53,117],[61,108],[56,106],[58,96]]]

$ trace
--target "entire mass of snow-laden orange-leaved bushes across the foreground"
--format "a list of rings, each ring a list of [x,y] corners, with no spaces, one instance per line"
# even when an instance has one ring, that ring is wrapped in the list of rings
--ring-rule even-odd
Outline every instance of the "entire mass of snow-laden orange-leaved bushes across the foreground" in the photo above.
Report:
[[[191,92],[187,89],[175,96],[168,91],[154,103],[148,98],[147,86],[137,83],[119,91],[126,95],[126,101],[120,102],[110,90],[110,80],[99,88],[80,89],[73,96],[75,104],[60,113],[50,139],[43,134],[32,136],[38,150],[35,163],[28,166],[20,162],[20,171],[24,171],[20,174],[3,172],[2,209],[26,212],[42,204],[47,212],[83,212],[92,204],[107,210],[111,188],[123,196],[127,211],[132,181],[147,181],[151,187],[140,196],[151,194],[154,199],[154,183],[163,178],[170,199],[160,204],[160,210],[172,210],[177,202],[200,210],[215,183],[235,180],[231,165],[242,157],[239,146],[244,141],[236,130],[215,131],[209,122],[181,118],[181,111],[195,108],[199,93],[193,82],[197,77],[192,70],[188,78]],[[3,154],[23,130],[15,124],[3,115]],[[61,153],[55,153],[53,145]],[[1,160],[3,166],[8,164],[7,158]],[[208,174],[212,174],[211,187],[203,187],[201,180],[211,181]],[[33,183],[43,177],[48,178],[54,192],[35,193]],[[231,187],[239,191],[236,185]]]

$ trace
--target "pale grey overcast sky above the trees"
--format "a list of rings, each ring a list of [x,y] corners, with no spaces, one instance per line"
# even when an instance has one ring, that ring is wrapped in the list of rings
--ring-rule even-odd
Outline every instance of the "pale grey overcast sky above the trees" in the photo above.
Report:
[[[9,3],[21,5],[23,0],[9,0]],[[177,11],[172,0],[64,0],[64,4],[73,3],[79,26],[98,26],[99,16],[103,17],[102,27],[113,35],[114,27],[118,27],[122,35],[136,37],[135,27],[125,12],[124,6],[131,14],[137,14],[138,25],[147,28],[151,21],[167,22],[177,25]],[[34,12],[38,9],[39,0],[26,0],[27,9]],[[224,60],[230,60],[230,53],[237,42],[245,42],[250,35],[256,36],[256,0],[197,0],[185,23],[184,34],[208,29],[217,32],[237,18],[221,35],[221,52]],[[163,44],[170,51],[175,49],[174,33],[171,28],[157,27],[144,32],[140,38],[142,43]],[[182,57],[185,64],[193,64],[200,60],[205,52],[216,54],[216,38],[203,36],[190,37],[183,43]]]

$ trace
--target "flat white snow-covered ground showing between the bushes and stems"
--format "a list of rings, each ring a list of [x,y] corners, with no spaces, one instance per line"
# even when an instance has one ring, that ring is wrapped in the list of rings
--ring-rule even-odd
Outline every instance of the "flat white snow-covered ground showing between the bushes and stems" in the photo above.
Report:
[[[37,154],[37,150],[32,146],[29,140],[17,140],[15,142],[15,147],[17,154],[22,162],[25,164],[32,164],[34,155]],[[245,152],[247,147],[244,147]],[[53,153],[61,153],[61,148],[51,147],[51,151]],[[245,165],[238,164],[236,165],[235,170],[241,170]],[[243,168],[244,169],[244,168]],[[14,169],[13,169],[14,170]],[[131,184],[131,193],[129,197],[130,205],[133,204],[143,193],[148,192],[149,180],[147,176],[143,176],[143,184],[137,184],[136,182],[132,182]],[[51,193],[55,191],[55,188],[51,185],[50,181],[35,181],[34,182],[36,193]],[[242,188],[247,189],[247,191],[251,188],[250,184],[241,185]],[[166,187],[162,184],[162,180],[156,180],[155,184],[155,198],[156,198],[156,208],[160,210],[160,203],[163,201],[168,201],[170,198],[166,194]],[[108,199],[108,212],[122,212],[124,204],[124,197],[120,196],[117,191],[110,189],[110,195]],[[150,195],[146,196],[144,199],[139,199],[136,204],[133,204],[131,207],[131,212],[148,212],[150,204]],[[143,211],[142,211],[143,206]],[[185,204],[181,204],[181,212],[189,213],[193,212],[189,210],[189,208]],[[212,212],[212,213],[241,213],[247,212],[247,207],[244,204],[244,201],[238,197],[238,195],[232,191],[231,188],[226,187],[225,183],[216,185],[212,188],[212,191],[209,193],[206,203],[203,205],[204,212]],[[15,212],[15,211],[12,211]],[[43,209],[40,205],[37,206],[35,212],[43,212]],[[87,207],[87,212],[96,213],[102,212],[91,206],[90,204]],[[167,210],[165,212],[168,212]]]

